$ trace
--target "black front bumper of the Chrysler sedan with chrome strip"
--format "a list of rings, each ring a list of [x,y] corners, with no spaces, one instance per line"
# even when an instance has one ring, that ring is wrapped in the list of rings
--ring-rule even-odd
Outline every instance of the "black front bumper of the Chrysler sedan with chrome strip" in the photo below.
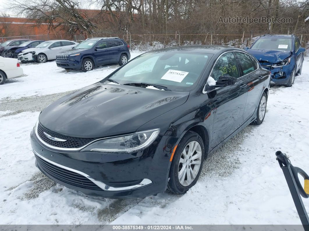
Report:
[[[167,188],[172,149],[178,138],[161,136],[136,153],[56,151],[44,146],[33,130],[36,165],[59,184],[92,196],[136,198]]]

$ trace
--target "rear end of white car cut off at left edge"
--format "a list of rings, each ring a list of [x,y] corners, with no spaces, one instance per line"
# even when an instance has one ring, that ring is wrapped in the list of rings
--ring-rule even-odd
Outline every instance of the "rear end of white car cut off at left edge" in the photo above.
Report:
[[[17,59],[0,56],[0,85],[4,84],[7,79],[21,75],[23,75],[23,69]]]

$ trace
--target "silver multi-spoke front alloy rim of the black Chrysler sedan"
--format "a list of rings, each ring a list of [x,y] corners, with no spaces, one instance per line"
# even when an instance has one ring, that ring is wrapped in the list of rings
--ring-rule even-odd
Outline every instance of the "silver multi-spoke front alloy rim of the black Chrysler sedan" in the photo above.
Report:
[[[202,161],[201,145],[197,141],[189,142],[180,155],[178,180],[182,186],[189,186],[197,177]]]

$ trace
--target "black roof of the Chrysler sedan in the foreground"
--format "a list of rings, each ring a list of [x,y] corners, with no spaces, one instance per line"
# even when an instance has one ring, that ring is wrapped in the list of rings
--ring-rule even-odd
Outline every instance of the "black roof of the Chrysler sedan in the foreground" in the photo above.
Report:
[[[216,45],[189,45],[189,46],[178,46],[178,47],[166,47],[161,48],[157,51],[162,52],[192,52],[192,53],[205,53],[205,54],[216,54],[216,53],[222,53],[229,50],[235,50],[235,51],[241,51],[243,52],[243,49],[236,48],[236,47],[228,47],[228,46],[216,46]],[[151,51],[150,51],[151,52]]]

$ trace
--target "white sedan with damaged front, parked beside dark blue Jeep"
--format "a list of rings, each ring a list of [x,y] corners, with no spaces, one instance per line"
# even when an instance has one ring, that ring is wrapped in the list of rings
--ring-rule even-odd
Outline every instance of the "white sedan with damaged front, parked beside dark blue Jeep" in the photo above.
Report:
[[[18,54],[18,59],[22,62],[36,61],[45,63],[47,60],[56,59],[56,55],[59,52],[70,50],[77,44],[69,40],[49,40],[36,47],[23,50],[23,52]]]

